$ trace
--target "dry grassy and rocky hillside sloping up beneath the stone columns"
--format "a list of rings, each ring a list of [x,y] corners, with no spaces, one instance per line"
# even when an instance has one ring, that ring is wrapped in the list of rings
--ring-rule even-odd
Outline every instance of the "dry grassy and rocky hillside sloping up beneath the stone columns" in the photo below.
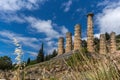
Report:
[[[115,56],[116,55],[116,56]],[[119,52],[68,53],[26,68],[26,78],[43,80],[120,80]],[[31,77],[30,77],[31,76]]]

